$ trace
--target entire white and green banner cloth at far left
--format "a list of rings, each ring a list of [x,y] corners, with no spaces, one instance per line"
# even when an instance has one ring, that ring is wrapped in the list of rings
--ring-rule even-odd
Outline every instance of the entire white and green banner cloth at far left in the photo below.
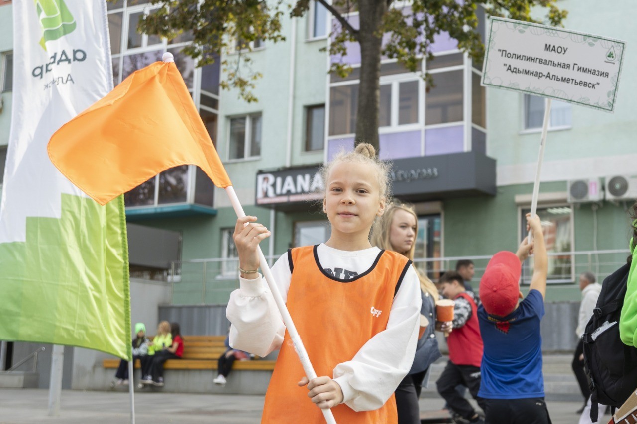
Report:
[[[113,88],[104,0],[13,1],[0,209],[0,340],[131,358],[124,198],[100,206],[53,166],[52,134]]]

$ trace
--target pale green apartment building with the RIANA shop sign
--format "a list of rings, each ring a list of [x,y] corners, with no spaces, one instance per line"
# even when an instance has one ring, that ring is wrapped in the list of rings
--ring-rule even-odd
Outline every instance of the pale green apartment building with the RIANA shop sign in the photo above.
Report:
[[[10,4],[0,3],[3,165],[11,115]],[[629,20],[621,18],[637,5],[624,4],[621,12],[592,0],[562,0],[559,6],[569,11],[568,29],[628,45],[637,41]],[[317,169],[353,146],[360,64],[355,45],[344,57],[322,51],[333,25],[327,11],[311,2],[308,16],[283,20],[285,41],[257,42],[251,52],[241,52],[263,74],[254,91],[259,101],[248,104],[237,92],[220,90],[219,62],[198,68],[180,53],[188,34],[168,43],[136,31],[138,18],[152,13],[147,2],[120,0],[108,3],[108,10],[115,82],[161,60],[166,50],[175,55],[245,211],[273,232],[262,243],[266,257],[275,260],[287,248],[325,241],[329,224],[317,206]],[[355,11],[350,22],[357,25]],[[487,30],[483,19],[481,29]],[[477,286],[488,257],[515,250],[524,234],[545,101],[481,87],[482,64],[444,34],[433,50],[434,60],[421,62],[433,76],[428,91],[419,74],[383,59],[380,153],[393,162],[395,197],[413,203],[419,215],[417,265],[435,279],[457,258],[473,258]],[[238,54],[227,53],[230,59]],[[351,64],[352,74],[328,74],[335,60]],[[624,69],[635,60],[627,55]],[[603,278],[626,258],[627,211],[637,197],[637,145],[631,142],[636,90],[625,71],[615,113],[553,102],[538,206],[551,253],[549,301],[578,301],[580,272]],[[167,281],[173,304],[227,302],[238,286],[238,264],[231,237],[236,215],[223,190],[196,167],[182,166],[125,199],[131,276]],[[523,284],[529,274],[526,268]]]

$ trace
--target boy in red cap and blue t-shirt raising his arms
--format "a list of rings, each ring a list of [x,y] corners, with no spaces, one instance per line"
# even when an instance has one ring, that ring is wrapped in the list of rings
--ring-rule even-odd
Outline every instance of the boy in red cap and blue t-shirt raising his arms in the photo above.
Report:
[[[550,423],[544,400],[540,320],[544,316],[548,259],[540,218],[526,215],[527,230],[517,253],[496,253],[480,280],[478,322],[484,344],[482,382],[478,395],[486,405],[487,424]],[[519,279],[522,263],[531,253],[533,278],[526,299]]]

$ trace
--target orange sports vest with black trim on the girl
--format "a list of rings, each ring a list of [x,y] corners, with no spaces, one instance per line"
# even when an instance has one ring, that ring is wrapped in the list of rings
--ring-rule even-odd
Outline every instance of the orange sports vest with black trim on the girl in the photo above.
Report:
[[[287,307],[317,376],[333,376],[371,337],[387,327],[389,311],[404,272],[403,255],[381,251],[369,271],[347,281],[320,267],[316,246],[288,251],[292,271]],[[305,375],[287,330],[266,393],[262,423],[324,424],[323,413],[298,381]],[[383,384],[379,382],[379,384]],[[345,404],[332,408],[339,424],[397,423],[392,394],[374,411],[356,412]]]

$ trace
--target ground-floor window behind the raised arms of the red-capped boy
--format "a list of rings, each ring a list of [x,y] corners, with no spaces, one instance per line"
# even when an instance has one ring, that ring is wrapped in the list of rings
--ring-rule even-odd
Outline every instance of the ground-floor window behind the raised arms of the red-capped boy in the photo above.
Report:
[[[526,219],[524,216],[530,209],[520,211],[520,240],[527,236]],[[573,256],[564,254],[572,250],[573,241],[573,209],[571,206],[552,206],[538,208],[538,216],[542,222],[544,239],[548,252],[548,283],[570,283],[573,275]],[[533,276],[533,257],[529,258],[522,267],[522,283],[531,283]]]

